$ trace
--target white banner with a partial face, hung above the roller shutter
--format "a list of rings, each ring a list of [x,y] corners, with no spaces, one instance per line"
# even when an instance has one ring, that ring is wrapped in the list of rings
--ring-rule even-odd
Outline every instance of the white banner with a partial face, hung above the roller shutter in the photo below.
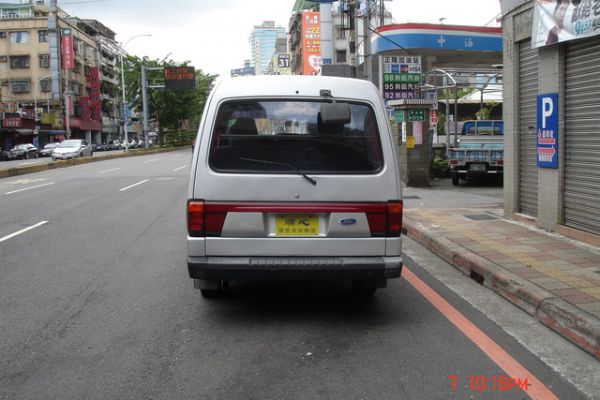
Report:
[[[531,47],[600,34],[600,0],[536,0]]]

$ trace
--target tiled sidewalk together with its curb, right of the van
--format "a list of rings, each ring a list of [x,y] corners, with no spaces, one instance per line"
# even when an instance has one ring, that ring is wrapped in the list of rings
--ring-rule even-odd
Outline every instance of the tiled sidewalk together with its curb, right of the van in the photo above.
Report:
[[[404,210],[408,236],[600,359],[600,248],[498,209]]]

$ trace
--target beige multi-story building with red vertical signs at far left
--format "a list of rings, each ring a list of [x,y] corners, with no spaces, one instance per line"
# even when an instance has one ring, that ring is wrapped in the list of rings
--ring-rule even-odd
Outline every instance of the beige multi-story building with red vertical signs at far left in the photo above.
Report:
[[[99,142],[118,131],[114,32],[58,9],[52,47],[50,16],[44,1],[0,3],[0,147],[69,137]],[[51,69],[53,57],[59,62]]]

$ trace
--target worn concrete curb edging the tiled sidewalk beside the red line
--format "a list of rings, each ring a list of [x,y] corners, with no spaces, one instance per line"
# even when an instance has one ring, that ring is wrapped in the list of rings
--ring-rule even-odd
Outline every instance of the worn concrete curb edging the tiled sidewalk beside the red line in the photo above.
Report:
[[[436,235],[404,216],[406,234],[452,264],[463,274],[492,289],[539,322],[600,359],[600,319],[508,269]]]

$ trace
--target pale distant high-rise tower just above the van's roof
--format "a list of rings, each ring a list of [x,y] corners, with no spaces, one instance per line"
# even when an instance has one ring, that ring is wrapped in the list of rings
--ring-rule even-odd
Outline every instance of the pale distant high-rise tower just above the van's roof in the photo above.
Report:
[[[264,21],[262,25],[255,25],[250,34],[250,54],[252,66],[256,75],[265,75],[269,71],[269,63],[275,52],[277,38],[285,37],[285,28],[275,26],[275,21]]]

